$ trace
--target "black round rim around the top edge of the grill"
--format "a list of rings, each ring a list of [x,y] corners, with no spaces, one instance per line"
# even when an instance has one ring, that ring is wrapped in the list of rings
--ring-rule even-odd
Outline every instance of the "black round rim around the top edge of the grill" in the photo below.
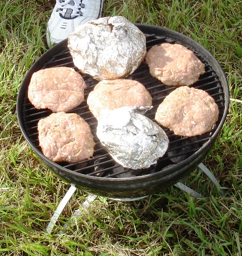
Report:
[[[52,162],[50,159],[46,158],[43,155],[43,153],[38,150],[38,148],[36,148],[35,144],[28,137],[28,134],[26,133],[26,129],[24,128],[24,122],[23,122],[24,121],[24,118],[23,118],[23,111],[24,110],[22,109],[22,104],[21,103],[23,103],[23,97],[22,97],[23,93],[26,92],[26,88],[24,88],[24,87],[26,87],[26,84],[29,84],[29,82],[30,82],[30,77],[28,76],[28,73],[35,72],[36,70],[38,70],[38,67],[39,67],[40,63],[41,63],[41,67],[43,67],[43,61],[44,60],[47,60],[47,61],[50,60],[49,59],[49,52],[50,51],[52,52],[52,55],[57,55],[60,52],[59,51],[60,47],[64,47],[64,46],[67,45],[67,39],[66,39],[66,40],[60,42],[59,44],[56,44],[56,46],[49,49],[39,59],[37,59],[35,61],[35,63],[32,65],[32,67],[29,69],[26,76],[24,77],[24,79],[22,81],[22,84],[20,85],[18,98],[17,98],[17,103],[16,103],[16,113],[17,113],[17,118],[18,118],[20,130],[22,131],[22,133],[23,133],[24,137],[26,138],[28,144],[30,144],[31,148],[36,152],[36,154],[40,157],[40,159],[42,159],[43,162],[49,168],[51,168],[54,172],[55,171],[59,171],[59,172],[61,171],[61,172],[64,172],[66,175],[75,176],[75,177],[83,179],[83,180],[90,180],[90,182],[91,181],[101,181],[101,182],[109,181],[109,183],[111,182],[112,184],[114,184],[114,183],[120,184],[120,181],[121,181],[121,183],[123,181],[127,181],[127,183],[130,184],[131,181],[133,181],[133,180],[142,181],[142,180],[145,180],[147,178],[151,179],[151,178],[156,177],[156,176],[163,176],[168,172],[176,171],[176,170],[182,170],[183,167],[190,166],[191,164],[194,164],[194,162],[197,162],[196,159],[200,160],[200,158],[204,158],[207,155],[208,151],[213,146],[213,143],[215,142],[216,138],[218,137],[219,132],[222,129],[222,126],[224,125],[224,122],[226,120],[227,113],[228,113],[228,108],[229,108],[229,104],[230,104],[227,78],[226,78],[226,75],[223,72],[222,67],[218,63],[218,61],[216,61],[214,56],[212,56],[211,53],[208,52],[207,49],[204,48],[201,44],[199,44],[198,42],[195,42],[195,40],[187,37],[186,35],[181,34],[180,32],[169,30],[168,28],[155,26],[155,25],[137,24],[137,23],[135,23],[135,25],[137,27],[139,27],[140,30],[144,32],[144,34],[148,34],[148,35],[159,34],[160,35],[160,34],[164,33],[165,38],[168,38],[168,37],[169,38],[174,38],[174,37],[179,38],[179,40],[182,43],[185,42],[184,45],[187,48],[191,48],[189,46],[192,46],[192,48],[201,49],[200,51],[202,51],[203,58],[206,59],[207,63],[212,66],[212,69],[216,73],[216,75],[219,77],[220,84],[222,85],[222,88],[223,88],[223,94],[224,94],[223,95],[224,96],[223,115],[220,119],[218,127],[216,127],[216,130],[214,131],[214,133],[211,135],[210,138],[208,138],[208,141],[205,142],[199,148],[199,150],[197,150],[194,154],[192,154],[191,156],[189,156],[188,158],[186,158],[182,162],[175,164],[176,168],[174,168],[174,166],[170,166],[170,167],[166,168],[165,170],[160,170],[160,171],[154,172],[152,174],[145,174],[145,175],[135,176],[135,177],[111,177],[111,178],[110,177],[97,177],[97,176],[91,176],[91,175],[87,175],[87,174],[81,174],[79,172],[75,172],[75,171],[69,170],[65,167],[62,167],[58,163]],[[45,61],[45,62],[47,62],[47,61]]]

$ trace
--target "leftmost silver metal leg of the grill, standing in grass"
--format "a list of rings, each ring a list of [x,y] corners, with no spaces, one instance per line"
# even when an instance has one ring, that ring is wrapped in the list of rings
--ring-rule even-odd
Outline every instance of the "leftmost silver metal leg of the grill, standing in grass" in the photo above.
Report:
[[[56,224],[56,221],[58,220],[62,210],[65,208],[66,204],[68,203],[68,201],[70,200],[70,197],[72,197],[72,195],[74,194],[74,192],[76,191],[76,187],[74,184],[71,184],[70,188],[68,189],[68,191],[66,192],[65,196],[63,197],[63,199],[60,201],[60,204],[58,205],[58,207],[56,208],[51,221],[49,221],[49,224],[47,226],[46,232],[47,233],[51,233],[53,227]]]

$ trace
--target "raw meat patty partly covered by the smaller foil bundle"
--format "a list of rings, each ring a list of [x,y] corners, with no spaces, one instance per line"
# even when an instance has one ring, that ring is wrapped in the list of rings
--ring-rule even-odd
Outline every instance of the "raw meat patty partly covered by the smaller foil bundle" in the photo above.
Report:
[[[102,80],[89,93],[87,105],[95,118],[104,109],[122,106],[151,106],[152,97],[143,84],[130,79]]]

